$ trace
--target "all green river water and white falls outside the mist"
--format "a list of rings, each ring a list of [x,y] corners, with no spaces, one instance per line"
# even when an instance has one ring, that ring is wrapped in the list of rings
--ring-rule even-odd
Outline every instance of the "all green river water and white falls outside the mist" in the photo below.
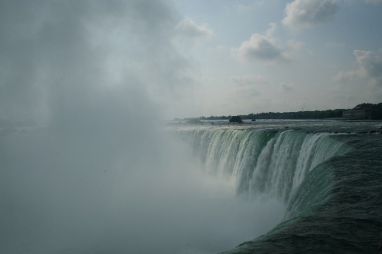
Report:
[[[282,223],[225,253],[376,251],[382,233],[381,122],[175,126],[205,170],[234,184],[237,195],[276,197],[286,207]]]

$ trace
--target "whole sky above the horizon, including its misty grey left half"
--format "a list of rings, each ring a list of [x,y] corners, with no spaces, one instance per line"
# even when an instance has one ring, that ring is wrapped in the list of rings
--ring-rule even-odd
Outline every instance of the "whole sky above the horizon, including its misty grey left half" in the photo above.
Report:
[[[160,119],[382,101],[380,0],[0,6],[0,119],[51,123],[109,101]]]

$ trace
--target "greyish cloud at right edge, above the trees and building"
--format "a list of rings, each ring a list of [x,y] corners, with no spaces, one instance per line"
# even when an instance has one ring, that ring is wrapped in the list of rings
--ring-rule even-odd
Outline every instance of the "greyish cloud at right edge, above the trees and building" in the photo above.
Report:
[[[341,81],[354,77],[366,78],[374,86],[382,86],[382,58],[372,52],[365,50],[354,50],[353,54],[359,68],[357,70],[341,71],[333,79]]]

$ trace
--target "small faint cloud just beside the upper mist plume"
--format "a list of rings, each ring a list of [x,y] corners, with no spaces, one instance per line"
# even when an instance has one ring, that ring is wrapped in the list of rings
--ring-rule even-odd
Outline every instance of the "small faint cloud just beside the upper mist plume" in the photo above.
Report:
[[[197,25],[189,17],[185,17],[174,28],[173,35],[186,39],[209,39],[215,36],[215,33],[205,24]]]

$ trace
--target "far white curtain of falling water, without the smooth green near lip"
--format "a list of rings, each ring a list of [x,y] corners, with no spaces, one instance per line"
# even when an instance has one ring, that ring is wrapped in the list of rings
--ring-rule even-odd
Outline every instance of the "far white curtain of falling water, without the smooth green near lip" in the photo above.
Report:
[[[178,132],[192,144],[205,170],[226,178],[238,194],[265,194],[285,204],[310,171],[349,149],[330,133],[223,128]]]

